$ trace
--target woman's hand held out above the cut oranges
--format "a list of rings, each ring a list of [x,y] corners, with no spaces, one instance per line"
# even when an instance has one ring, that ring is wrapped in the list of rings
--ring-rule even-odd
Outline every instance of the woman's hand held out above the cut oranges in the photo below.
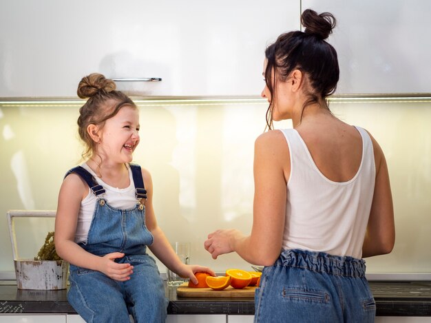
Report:
[[[211,253],[213,259],[224,253],[235,251],[235,242],[244,238],[244,235],[235,229],[217,230],[209,233],[208,239],[204,242],[205,249]]]

